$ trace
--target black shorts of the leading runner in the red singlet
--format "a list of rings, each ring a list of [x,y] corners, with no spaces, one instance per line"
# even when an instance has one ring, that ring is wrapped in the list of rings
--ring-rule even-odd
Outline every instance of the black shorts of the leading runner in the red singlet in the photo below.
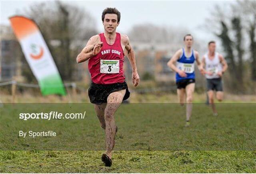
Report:
[[[130,92],[126,82],[123,83],[114,83],[114,84],[96,84],[91,83],[90,88],[88,89],[88,96],[90,102],[93,104],[102,104],[107,102],[109,94],[112,92],[120,91],[126,89],[123,100],[126,100],[130,97]]]

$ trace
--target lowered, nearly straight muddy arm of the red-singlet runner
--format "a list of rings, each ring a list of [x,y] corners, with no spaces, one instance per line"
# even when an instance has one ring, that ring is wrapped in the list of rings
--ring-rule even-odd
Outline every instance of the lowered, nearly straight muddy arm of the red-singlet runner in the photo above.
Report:
[[[125,45],[124,54],[128,57],[129,62],[132,66],[132,83],[134,86],[137,86],[140,82],[140,77],[137,71],[135,53],[134,50],[132,49],[128,36],[122,36],[122,43]]]

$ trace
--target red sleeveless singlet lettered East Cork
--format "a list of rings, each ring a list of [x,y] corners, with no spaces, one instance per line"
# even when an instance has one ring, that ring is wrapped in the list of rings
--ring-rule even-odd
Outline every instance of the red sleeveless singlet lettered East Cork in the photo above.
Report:
[[[103,42],[103,46],[100,52],[96,56],[90,58],[88,62],[92,82],[96,84],[113,84],[124,82],[124,52],[121,46],[120,33],[116,33],[116,40],[113,45],[109,45],[107,43],[104,33],[100,33],[99,36],[100,41]],[[101,60],[119,60],[119,73],[100,73]],[[104,72],[107,71],[108,69]]]

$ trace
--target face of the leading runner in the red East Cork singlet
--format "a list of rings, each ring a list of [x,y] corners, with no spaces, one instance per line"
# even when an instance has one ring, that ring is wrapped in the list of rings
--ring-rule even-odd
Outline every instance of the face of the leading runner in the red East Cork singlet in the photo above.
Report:
[[[117,15],[116,14],[105,14],[105,18],[103,21],[104,29],[108,33],[113,33],[116,31],[116,27],[118,26]]]

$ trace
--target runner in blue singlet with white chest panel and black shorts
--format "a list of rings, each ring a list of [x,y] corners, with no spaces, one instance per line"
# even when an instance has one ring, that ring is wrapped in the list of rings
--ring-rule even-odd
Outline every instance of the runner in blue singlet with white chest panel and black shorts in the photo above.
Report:
[[[190,125],[190,116],[192,114],[192,100],[195,89],[195,67],[196,61],[198,69],[204,72],[202,64],[199,60],[199,54],[192,49],[193,37],[187,34],[183,38],[185,48],[178,50],[167,63],[167,65],[176,72],[176,85],[178,99],[181,105],[186,99],[186,124]],[[175,66],[176,63],[176,66]]]

